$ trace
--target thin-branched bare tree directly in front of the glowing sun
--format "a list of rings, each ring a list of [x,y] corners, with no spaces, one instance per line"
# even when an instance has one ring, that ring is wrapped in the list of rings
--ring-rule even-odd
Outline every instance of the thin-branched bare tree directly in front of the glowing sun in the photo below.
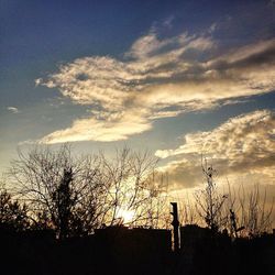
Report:
[[[102,160],[109,206],[105,222],[158,227],[166,198],[163,175],[155,172],[158,160],[148,152],[135,153],[127,147],[117,151],[114,160]],[[131,219],[123,220],[123,212]]]

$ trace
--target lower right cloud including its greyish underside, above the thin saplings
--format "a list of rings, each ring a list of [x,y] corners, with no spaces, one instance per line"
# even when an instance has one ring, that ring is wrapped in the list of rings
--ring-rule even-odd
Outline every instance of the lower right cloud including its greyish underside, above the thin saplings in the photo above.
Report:
[[[274,184],[275,113],[258,110],[232,118],[207,132],[185,135],[175,150],[158,150],[156,156],[177,156],[163,170],[177,187],[193,187],[201,178],[201,155],[213,160],[220,175],[250,175],[253,180]]]

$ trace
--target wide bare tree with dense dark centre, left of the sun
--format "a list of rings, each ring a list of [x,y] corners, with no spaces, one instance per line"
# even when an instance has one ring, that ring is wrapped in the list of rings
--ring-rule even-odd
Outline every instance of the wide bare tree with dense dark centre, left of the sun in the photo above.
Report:
[[[99,166],[97,157],[73,157],[68,145],[58,151],[35,147],[26,154],[19,152],[9,179],[18,199],[28,204],[30,216],[65,238],[98,226],[97,211],[102,209],[97,200],[105,188]]]

